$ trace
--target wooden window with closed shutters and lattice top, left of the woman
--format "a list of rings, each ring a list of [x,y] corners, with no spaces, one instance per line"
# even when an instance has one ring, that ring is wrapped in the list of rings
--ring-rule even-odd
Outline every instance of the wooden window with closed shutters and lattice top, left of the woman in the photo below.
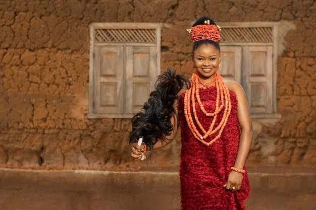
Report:
[[[90,25],[89,118],[132,118],[160,75],[161,24]]]

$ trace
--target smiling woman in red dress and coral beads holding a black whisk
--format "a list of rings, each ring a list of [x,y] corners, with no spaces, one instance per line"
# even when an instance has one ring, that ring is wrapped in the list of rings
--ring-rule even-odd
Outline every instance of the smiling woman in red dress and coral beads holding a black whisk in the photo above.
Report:
[[[139,123],[145,115],[133,118],[130,143],[134,159],[140,159],[141,152],[148,148],[152,151],[169,144],[176,135],[178,123],[181,125],[182,209],[246,209],[244,201],[250,195],[245,161],[252,139],[251,117],[242,87],[235,81],[223,79],[218,72],[222,59],[220,31],[207,17],[197,20],[188,30],[194,42],[195,71],[191,87],[188,86],[178,101],[177,93],[186,82],[183,78],[174,79],[180,85],[174,94],[169,93],[174,96],[172,100],[159,97],[164,94],[152,100],[165,104],[156,113],[166,120],[162,123],[166,127],[154,125],[150,120],[145,120],[147,124]],[[161,80],[160,84],[167,83]],[[156,91],[159,92],[159,85]],[[173,107],[169,104],[168,109],[166,101],[172,101]],[[149,100],[145,105],[154,107]],[[143,114],[152,112],[144,108]],[[151,128],[142,130],[148,124]],[[139,147],[133,142],[140,135],[145,137]]]

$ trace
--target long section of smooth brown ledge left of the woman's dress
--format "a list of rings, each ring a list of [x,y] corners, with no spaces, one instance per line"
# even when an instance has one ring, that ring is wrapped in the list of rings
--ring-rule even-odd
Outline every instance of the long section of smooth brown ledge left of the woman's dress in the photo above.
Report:
[[[0,209],[180,209],[179,176],[176,172],[1,169]]]

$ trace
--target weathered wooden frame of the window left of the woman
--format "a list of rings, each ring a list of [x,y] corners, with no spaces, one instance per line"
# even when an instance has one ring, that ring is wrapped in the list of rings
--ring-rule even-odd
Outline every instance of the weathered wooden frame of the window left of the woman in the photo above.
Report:
[[[126,98],[128,97],[127,94],[130,93],[130,91],[124,90],[124,101],[120,103],[124,103],[124,111],[123,113],[99,113],[95,112],[95,72],[96,70],[94,69],[95,65],[95,52],[94,48],[96,46],[123,46],[124,50],[126,47],[129,46],[148,46],[148,47],[155,47],[155,68],[154,69],[148,69],[149,76],[150,78],[150,90],[147,90],[148,93],[153,91],[154,88],[154,82],[156,80],[156,77],[161,74],[161,28],[162,28],[162,23],[91,23],[89,24],[89,112],[87,114],[88,118],[132,118],[135,113],[127,113],[125,110],[126,106],[129,106],[128,104],[126,105],[126,101],[128,101]],[[95,41],[95,30],[96,29],[122,29],[122,30],[137,30],[137,29],[149,29],[155,30],[155,42],[151,43],[145,43],[145,42],[135,42],[135,41],[116,41],[116,42],[104,42],[104,43],[97,43]],[[149,36],[149,35],[148,35]],[[152,38],[152,37],[151,37]],[[149,38],[148,38],[149,39]],[[124,69],[126,68],[126,52],[124,52]],[[126,69],[125,69],[126,71]],[[124,73],[123,76],[123,82],[122,85],[124,86],[124,89],[127,86],[127,76]],[[149,94],[147,98],[149,97]],[[145,101],[144,101],[145,102]],[[138,105],[140,106],[140,105]],[[141,107],[139,107],[140,111]],[[134,109],[135,110],[135,109]]]

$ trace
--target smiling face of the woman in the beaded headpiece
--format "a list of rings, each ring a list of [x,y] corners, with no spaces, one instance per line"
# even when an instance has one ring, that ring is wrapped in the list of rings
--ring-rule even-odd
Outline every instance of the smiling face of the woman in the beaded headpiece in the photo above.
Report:
[[[209,79],[216,73],[221,60],[222,54],[212,44],[203,44],[192,54],[195,69],[203,80]]]

